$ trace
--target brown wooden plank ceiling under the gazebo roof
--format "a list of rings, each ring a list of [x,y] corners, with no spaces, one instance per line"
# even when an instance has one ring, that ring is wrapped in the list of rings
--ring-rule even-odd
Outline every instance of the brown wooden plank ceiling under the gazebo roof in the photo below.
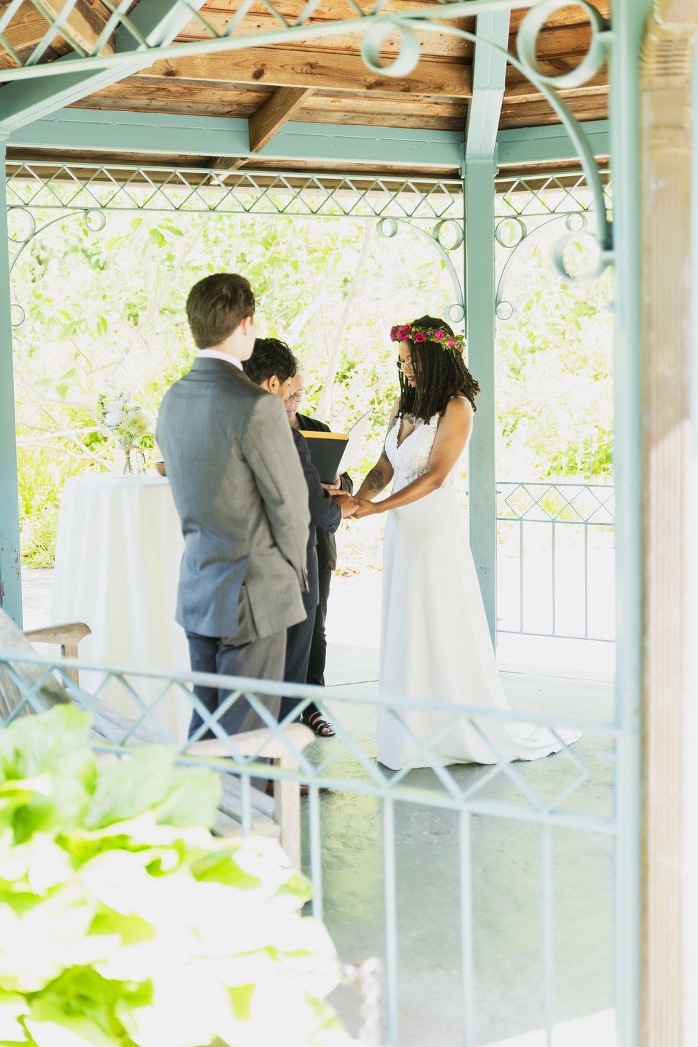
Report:
[[[357,2],[368,12],[375,0]],[[410,12],[424,7],[428,2],[388,0],[382,12]],[[51,13],[57,13],[63,6],[63,0],[42,0],[42,3]],[[289,22],[297,19],[306,6],[306,0],[274,0],[274,3]],[[609,0],[595,0],[595,3],[608,18]],[[241,0],[211,0],[201,13],[217,31],[223,32],[240,5]],[[24,13],[23,18],[16,16],[5,31],[20,53],[27,52],[46,32],[46,22],[30,0],[25,0],[21,12]],[[512,53],[516,53],[516,32],[525,14],[518,10],[511,15]],[[69,16],[67,32],[83,46],[88,46],[90,41],[96,40],[107,17],[107,8],[100,0],[78,0]],[[320,0],[308,24],[349,17],[351,12],[346,0]],[[452,24],[471,31],[474,29],[474,19],[453,20]],[[240,20],[235,35],[278,29],[278,20],[261,0],[255,0]],[[336,36],[316,40],[300,39],[225,53],[170,58],[102,88],[74,105],[92,110],[247,118],[253,152],[271,141],[288,119],[382,128],[464,129],[471,94],[473,44],[446,34],[421,31],[418,35],[420,61],[404,80],[381,76],[367,69],[359,52],[360,37],[342,34],[340,27]],[[192,18],[176,42],[209,37],[206,27]],[[569,4],[558,9],[538,38],[537,53],[543,70],[555,75],[575,68],[587,50],[589,38],[589,25],[581,7]],[[113,43],[108,43],[104,50],[112,48]],[[69,49],[65,40],[56,38],[52,41],[48,59]],[[397,38],[389,35],[381,49],[385,62],[391,62],[397,52]],[[0,64],[5,67],[11,65],[7,53],[0,52]],[[605,66],[588,84],[562,92],[581,120],[606,117],[607,93]],[[518,70],[508,66],[499,127],[540,127],[557,122],[556,114],[536,88]],[[8,155],[14,152],[8,150]],[[19,152],[16,155],[19,156]],[[32,155],[37,153],[32,151]],[[181,156],[185,155],[186,143],[183,142]],[[59,158],[54,151],[51,158]],[[107,159],[127,162],[125,154],[93,158],[99,162]],[[170,158],[144,157],[141,154],[140,159],[142,162],[163,163]],[[202,166],[264,166],[261,157],[236,160],[187,156],[187,160]],[[267,165],[282,166],[278,161]],[[299,164],[296,162],[294,166]],[[318,168],[318,164],[312,166]],[[436,173],[434,169],[432,173]]]

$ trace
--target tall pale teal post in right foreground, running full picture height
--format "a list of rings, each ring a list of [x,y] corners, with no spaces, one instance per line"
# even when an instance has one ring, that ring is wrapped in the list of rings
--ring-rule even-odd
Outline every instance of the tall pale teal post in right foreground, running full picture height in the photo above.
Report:
[[[615,985],[619,1042],[639,1043],[642,487],[639,387],[639,42],[650,0],[613,0],[610,65],[615,248]]]

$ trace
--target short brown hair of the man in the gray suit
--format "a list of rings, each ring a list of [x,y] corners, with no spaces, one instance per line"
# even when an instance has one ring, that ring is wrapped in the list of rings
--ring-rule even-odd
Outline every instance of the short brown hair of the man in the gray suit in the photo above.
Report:
[[[187,319],[197,349],[219,346],[246,316],[254,313],[252,288],[236,272],[204,276],[187,297]]]

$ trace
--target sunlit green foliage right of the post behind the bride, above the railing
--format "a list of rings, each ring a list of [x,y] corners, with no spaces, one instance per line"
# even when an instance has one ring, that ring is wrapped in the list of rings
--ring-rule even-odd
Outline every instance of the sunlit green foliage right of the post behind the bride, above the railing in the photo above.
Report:
[[[502,480],[612,481],[611,271],[563,283],[550,263],[560,235],[558,224],[525,243],[508,288],[517,311],[497,329]],[[588,268],[585,240],[572,249]]]

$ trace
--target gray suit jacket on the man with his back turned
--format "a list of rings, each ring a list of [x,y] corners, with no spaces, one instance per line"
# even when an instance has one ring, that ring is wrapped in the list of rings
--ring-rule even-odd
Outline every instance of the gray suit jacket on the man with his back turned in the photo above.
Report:
[[[278,397],[233,363],[196,359],[165,394],[157,440],[185,543],[180,625],[235,637],[241,601],[246,640],[305,618],[307,489]]]

